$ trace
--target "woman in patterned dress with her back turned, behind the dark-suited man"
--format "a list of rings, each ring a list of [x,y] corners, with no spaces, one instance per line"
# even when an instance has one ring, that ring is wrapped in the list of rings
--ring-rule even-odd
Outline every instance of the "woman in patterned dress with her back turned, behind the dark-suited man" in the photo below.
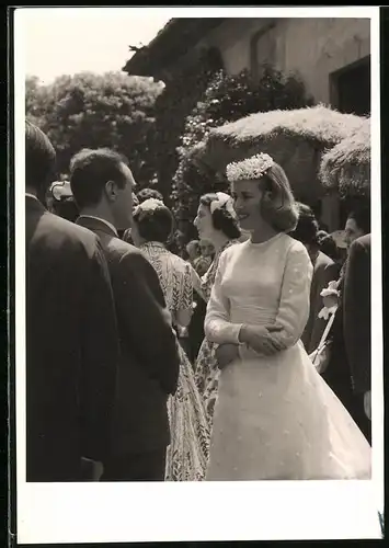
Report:
[[[173,327],[178,330],[191,321],[193,278],[191,264],[165,248],[172,228],[172,214],[161,201],[147,199],[134,212],[134,243],[156,269]],[[180,354],[178,390],[168,401],[171,442],[167,452],[165,480],[196,481],[204,479],[209,431],[192,365],[181,346]]]

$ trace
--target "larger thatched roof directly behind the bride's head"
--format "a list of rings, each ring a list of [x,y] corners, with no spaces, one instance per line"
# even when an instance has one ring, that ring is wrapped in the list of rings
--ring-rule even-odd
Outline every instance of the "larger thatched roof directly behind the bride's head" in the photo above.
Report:
[[[363,123],[359,116],[323,105],[260,112],[213,129],[194,158],[199,164],[224,172],[231,161],[267,152],[285,169],[299,199],[318,199],[324,193],[318,178],[322,152]]]

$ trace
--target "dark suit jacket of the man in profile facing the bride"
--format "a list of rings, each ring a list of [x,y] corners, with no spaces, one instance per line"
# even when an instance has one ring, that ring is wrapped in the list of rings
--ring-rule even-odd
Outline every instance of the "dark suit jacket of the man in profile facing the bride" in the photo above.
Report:
[[[176,389],[180,358],[158,275],[105,222],[87,216],[77,222],[99,236],[115,299],[121,358],[112,456],[160,450],[170,443],[167,401]]]

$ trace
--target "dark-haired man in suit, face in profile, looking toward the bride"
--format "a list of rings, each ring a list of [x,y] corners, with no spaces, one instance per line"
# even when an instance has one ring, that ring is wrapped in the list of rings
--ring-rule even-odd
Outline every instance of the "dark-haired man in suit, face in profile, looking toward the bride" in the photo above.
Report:
[[[111,456],[102,479],[163,480],[167,401],[176,389],[180,359],[158,275],[117,235],[131,222],[133,174],[126,159],[108,149],[82,150],[70,172],[81,212],[77,222],[99,236],[108,263],[121,338]]]

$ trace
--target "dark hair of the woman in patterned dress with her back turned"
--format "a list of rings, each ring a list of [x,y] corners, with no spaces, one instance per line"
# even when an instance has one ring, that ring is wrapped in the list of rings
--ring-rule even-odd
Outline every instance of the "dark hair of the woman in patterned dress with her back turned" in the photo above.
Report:
[[[174,228],[173,215],[165,205],[146,210],[138,207],[134,213],[134,221],[139,236],[146,241],[168,243]]]

